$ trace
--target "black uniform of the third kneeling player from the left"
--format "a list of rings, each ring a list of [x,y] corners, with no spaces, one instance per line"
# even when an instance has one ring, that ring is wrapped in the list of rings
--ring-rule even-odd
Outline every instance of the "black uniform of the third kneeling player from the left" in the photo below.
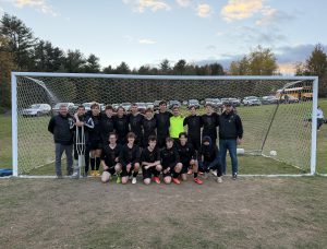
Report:
[[[141,155],[142,163],[155,163],[157,161],[160,162],[160,151],[158,147],[155,147],[154,151],[152,152],[148,150],[148,147],[145,147],[142,151],[142,155]],[[159,177],[160,171],[158,171],[155,166],[145,169],[145,165],[142,165],[142,174],[143,174],[143,179],[146,179],[146,178],[152,178],[153,176]]]

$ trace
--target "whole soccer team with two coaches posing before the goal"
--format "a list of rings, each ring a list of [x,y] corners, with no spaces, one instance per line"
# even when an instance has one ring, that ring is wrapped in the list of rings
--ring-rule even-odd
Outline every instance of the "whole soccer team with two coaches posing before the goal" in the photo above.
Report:
[[[208,173],[216,177],[217,182],[222,182],[229,151],[232,178],[237,179],[237,146],[242,142],[243,127],[232,104],[227,103],[220,115],[209,104],[205,105],[206,112],[202,116],[195,106],[189,109],[190,116],[183,117],[179,106],[173,106],[170,112],[162,100],[156,112],[147,108],[141,114],[136,104],[132,104],[130,114],[121,106],[114,112],[110,105],[101,112],[99,105],[94,103],[89,111],[81,105],[71,116],[66,107],[61,106],[59,115],[52,117],[48,126],[56,144],[57,177],[62,177],[61,156],[65,152],[68,175],[77,178],[77,159],[83,151],[84,176],[88,175],[90,166],[90,175],[101,176],[102,182],[117,175],[118,183],[128,183],[129,180],[136,183],[141,170],[145,185],[152,181],[160,183],[160,175],[165,183],[179,185],[192,174],[194,182],[202,185],[198,174],[205,179]]]

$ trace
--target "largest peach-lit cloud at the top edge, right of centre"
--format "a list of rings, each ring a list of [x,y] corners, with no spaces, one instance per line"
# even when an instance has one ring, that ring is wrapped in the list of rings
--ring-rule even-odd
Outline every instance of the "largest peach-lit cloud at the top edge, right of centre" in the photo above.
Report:
[[[228,22],[251,17],[264,7],[264,0],[229,0],[221,10],[221,15]]]

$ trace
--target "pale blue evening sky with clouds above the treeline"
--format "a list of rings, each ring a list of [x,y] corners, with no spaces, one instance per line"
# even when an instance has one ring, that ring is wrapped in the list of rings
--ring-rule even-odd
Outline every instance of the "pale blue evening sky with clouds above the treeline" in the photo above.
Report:
[[[327,51],[326,0],[0,0],[40,39],[131,69],[168,59],[225,69],[258,45],[291,74],[314,46]]]

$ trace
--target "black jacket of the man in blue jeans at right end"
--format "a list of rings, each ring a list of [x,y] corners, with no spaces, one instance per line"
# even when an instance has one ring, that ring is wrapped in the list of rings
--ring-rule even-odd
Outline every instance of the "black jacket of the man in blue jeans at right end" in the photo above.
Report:
[[[240,116],[234,111],[222,112],[219,116],[219,139],[238,138],[243,138],[243,126]]]

